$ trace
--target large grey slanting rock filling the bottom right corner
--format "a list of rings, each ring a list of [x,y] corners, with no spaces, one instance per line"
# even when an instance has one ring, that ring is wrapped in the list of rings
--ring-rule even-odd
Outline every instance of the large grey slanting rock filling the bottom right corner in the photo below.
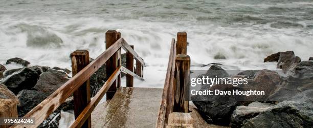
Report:
[[[243,127],[312,127],[313,90],[304,91],[259,113]]]

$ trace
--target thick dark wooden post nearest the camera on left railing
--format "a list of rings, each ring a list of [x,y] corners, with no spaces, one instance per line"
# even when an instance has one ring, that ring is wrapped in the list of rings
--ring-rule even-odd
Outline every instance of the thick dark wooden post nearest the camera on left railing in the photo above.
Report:
[[[89,61],[89,52],[87,50],[76,50],[71,54],[72,74],[75,76],[80,70],[86,67]],[[74,93],[74,115],[75,119],[85,109],[90,99],[90,81],[86,80]],[[82,127],[91,127],[91,117],[89,117]]]

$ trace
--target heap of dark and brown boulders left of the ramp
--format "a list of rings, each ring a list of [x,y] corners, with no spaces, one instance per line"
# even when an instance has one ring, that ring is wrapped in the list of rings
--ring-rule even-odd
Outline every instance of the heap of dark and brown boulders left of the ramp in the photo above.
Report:
[[[122,56],[126,65],[126,56]],[[94,59],[90,58],[90,61]],[[7,70],[0,65],[0,99],[10,99],[17,104],[18,117],[23,117],[41,101],[61,87],[71,77],[71,70],[59,67],[31,66],[21,58],[8,59],[6,65],[14,63],[23,68]],[[106,81],[105,65],[90,78],[91,96],[95,96]],[[60,112],[74,110],[73,96],[66,99],[39,127],[58,127]]]

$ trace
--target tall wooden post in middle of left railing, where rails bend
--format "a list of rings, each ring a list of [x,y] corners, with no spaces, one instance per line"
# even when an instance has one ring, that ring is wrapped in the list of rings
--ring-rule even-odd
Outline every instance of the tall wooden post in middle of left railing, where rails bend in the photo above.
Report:
[[[118,32],[115,30],[108,30],[105,33],[105,48],[108,49],[118,40]],[[114,54],[106,61],[106,76],[109,77],[116,70],[118,66],[118,54]],[[106,93],[106,100],[112,99],[117,88],[117,81],[115,81]]]

